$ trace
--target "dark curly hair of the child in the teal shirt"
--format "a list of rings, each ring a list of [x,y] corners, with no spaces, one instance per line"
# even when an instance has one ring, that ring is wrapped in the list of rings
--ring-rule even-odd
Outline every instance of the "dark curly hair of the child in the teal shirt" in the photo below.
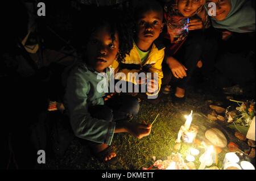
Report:
[[[93,17],[92,17],[93,16]],[[119,50],[116,60],[121,62],[125,59],[126,54],[129,54],[133,48],[133,22],[131,17],[124,11],[119,9],[113,9],[110,7],[97,7],[92,8],[86,12],[82,12],[79,18],[82,18],[86,22],[79,22],[81,24],[86,23],[88,26],[79,26],[77,29],[77,48],[83,50],[90,36],[97,28],[109,26],[110,36],[112,40],[115,40],[115,32],[118,33],[119,37]]]

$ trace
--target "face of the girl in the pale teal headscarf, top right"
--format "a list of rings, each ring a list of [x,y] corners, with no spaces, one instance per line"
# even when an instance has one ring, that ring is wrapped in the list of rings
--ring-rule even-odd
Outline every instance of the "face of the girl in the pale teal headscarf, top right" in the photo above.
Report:
[[[231,10],[230,0],[207,0],[207,5],[210,2],[216,3],[216,16],[213,16],[213,18],[219,21],[226,19],[226,16],[229,15]],[[208,9],[210,9],[210,7],[208,7]]]

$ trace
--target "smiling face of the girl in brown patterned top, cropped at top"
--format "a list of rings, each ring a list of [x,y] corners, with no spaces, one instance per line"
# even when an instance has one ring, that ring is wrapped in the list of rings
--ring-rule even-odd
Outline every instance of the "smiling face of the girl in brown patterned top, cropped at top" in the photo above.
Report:
[[[199,9],[203,0],[178,0],[177,9],[185,17],[190,17]]]

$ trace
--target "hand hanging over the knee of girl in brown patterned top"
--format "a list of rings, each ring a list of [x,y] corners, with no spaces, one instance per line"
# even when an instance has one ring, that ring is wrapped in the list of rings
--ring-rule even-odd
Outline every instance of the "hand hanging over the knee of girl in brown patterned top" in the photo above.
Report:
[[[169,65],[172,74],[174,74],[174,77],[177,79],[187,77],[186,71],[188,69],[185,68],[184,65],[180,64],[180,62],[177,61],[174,57],[168,57],[167,64]]]

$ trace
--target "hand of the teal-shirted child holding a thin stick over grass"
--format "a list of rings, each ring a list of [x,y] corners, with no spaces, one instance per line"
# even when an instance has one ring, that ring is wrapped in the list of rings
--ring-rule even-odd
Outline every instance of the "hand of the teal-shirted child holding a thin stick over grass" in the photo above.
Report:
[[[127,127],[127,131],[134,137],[141,139],[150,134],[151,125],[146,123],[144,124],[130,123]]]

